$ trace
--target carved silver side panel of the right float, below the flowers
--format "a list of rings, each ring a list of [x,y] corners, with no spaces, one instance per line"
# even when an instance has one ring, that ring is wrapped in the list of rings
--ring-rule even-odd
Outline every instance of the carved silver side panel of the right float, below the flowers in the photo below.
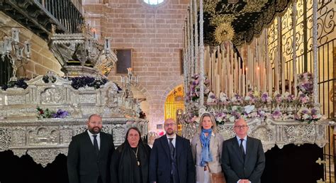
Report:
[[[283,148],[287,144],[315,143],[322,148],[328,143],[325,130],[327,126],[334,124],[332,121],[317,121],[308,124],[299,121],[273,121],[269,118],[265,121],[254,118],[247,123],[249,126],[247,135],[262,140],[265,152],[273,148],[274,145]],[[195,133],[190,135],[188,132],[194,132],[197,127],[191,127],[190,124],[184,127],[186,127],[184,131],[187,131],[184,134],[189,134],[185,137],[191,139]],[[218,131],[223,135],[224,140],[235,136],[233,123],[218,125]]]

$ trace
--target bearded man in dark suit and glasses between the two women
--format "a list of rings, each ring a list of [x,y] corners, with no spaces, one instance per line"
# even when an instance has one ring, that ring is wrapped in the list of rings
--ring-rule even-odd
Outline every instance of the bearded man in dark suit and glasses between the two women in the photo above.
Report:
[[[177,123],[164,121],[166,135],[157,138],[150,153],[150,182],[194,183],[195,166],[189,140],[176,134]]]

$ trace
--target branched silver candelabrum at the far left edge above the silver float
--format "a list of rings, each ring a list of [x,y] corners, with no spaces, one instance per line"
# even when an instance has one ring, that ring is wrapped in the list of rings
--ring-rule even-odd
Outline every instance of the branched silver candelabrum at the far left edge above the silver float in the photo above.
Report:
[[[20,30],[18,28],[12,28],[11,37],[5,36],[4,40],[0,40],[0,55],[2,55],[1,60],[4,62],[7,57],[13,67],[13,77],[11,77],[10,81],[17,80],[17,65],[26,64],[30,60],[31,44],[28,40],[21,43],[18,36],[19,33]]]

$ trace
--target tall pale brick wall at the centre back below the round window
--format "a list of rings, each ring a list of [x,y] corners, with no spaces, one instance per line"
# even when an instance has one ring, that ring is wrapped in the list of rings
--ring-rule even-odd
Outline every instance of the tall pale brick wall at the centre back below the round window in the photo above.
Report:
[[[86,0],[84,16],[98,35],[111,37],[112,48],[133,49],[137,87],[146,97],[143,109],[156,130],[164,121],[164,101],[169,91],[183,83],[180,50],[188,0],[165,0],[151,6],[142,0]],[[111,72],[111,79],[119,76]]]

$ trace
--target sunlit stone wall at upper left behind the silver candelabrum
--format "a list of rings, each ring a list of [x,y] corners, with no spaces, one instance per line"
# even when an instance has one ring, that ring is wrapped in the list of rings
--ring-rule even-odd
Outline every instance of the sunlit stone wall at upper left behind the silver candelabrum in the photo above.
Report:
[[[0,33],[3,32],[4,35],[11,36],[11,27],[19,28],[21,31],[21,43],[25,40],[29,40],[32,48],[30,61],[27,64],[24,64],[23,67],[18,68],[18,77],[31,78],[40,74],[45,74],[48,70],[60,74],[60,76],[63,75],[60,71],[61,65],[52,52],[50,52],[47,42],[30,30],[24,28],[11,17],[6,16],[5,13],[0,12]]]

